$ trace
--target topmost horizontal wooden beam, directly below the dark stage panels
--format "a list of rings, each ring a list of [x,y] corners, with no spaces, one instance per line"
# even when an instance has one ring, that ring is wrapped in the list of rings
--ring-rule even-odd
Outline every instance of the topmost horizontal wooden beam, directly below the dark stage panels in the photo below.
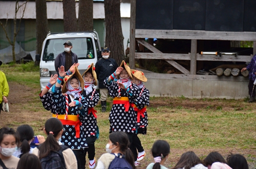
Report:
[[[135,38],[256,41],[256,32],[136,29]]]

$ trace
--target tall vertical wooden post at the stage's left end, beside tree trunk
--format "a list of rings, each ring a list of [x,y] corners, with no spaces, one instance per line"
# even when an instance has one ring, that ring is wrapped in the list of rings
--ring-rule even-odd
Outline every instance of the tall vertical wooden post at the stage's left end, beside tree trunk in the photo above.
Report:
[[[136,26],[136,0],[131,1],[131,17],[130,17],[130,56],[129,66],[135,69],[135,26]]]

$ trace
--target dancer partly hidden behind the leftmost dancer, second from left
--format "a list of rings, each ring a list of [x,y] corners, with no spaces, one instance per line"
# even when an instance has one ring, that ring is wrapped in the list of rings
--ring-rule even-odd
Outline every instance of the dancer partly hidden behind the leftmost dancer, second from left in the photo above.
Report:
[[[86,158],[86,153],[88,152],[89,168],[94,168],[96,164],[94,143],[97,133],[97,111],[94,109],[94,106],[96,106],[99,101],[99,93],[93,88],[94,85],[97,86],[97,75],[93,63],[84,71],[82,78],[84,80],[82,95],[88,103],[88,113],[84,116],[81,126],[81,130],[83,130],[84,133],[83,136],[86,137],[88,143],[88,149],[84,149],[82,156]]]

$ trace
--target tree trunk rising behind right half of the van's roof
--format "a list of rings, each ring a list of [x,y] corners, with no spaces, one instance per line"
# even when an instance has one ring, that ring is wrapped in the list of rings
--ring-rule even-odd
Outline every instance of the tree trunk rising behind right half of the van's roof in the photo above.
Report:
[[[78,31],[93,31],[93,0],[80,0]]]

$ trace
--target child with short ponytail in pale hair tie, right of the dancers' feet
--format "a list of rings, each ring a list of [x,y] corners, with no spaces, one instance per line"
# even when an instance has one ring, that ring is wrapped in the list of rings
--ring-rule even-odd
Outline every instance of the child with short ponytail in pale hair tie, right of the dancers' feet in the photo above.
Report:
[[[167,169],[163,164],[170,154],[170,146],[164,140],[156,140],[151,149],[155,163],[147,165],[146,169]]]

